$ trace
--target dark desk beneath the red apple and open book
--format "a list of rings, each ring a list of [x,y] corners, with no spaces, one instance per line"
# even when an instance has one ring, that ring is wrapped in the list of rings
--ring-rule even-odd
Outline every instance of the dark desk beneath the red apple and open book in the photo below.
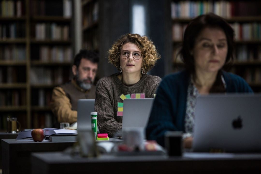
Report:
[[[2,140],[2,173],[31,173],[32,152],[63,151],[73,143]]]

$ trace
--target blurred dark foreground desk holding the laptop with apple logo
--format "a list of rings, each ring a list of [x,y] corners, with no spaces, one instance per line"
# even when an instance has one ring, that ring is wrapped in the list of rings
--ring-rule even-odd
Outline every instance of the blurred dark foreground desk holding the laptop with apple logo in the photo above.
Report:
[[[62,152],[32,153],[32,173],[251,173],[261,172],[261,154],[196,154],[182,157],[82,158]]]

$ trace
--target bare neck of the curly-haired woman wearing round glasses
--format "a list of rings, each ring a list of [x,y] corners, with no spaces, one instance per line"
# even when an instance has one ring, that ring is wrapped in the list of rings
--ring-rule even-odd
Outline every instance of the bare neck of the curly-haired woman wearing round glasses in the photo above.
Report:
[[[137,73],[125,73],[122,72],[122,74],[119,74],[118,79],[122,81],[122,83],[126,86],[132,86],[138,81],[140,81],[142,75],[140,72]]]

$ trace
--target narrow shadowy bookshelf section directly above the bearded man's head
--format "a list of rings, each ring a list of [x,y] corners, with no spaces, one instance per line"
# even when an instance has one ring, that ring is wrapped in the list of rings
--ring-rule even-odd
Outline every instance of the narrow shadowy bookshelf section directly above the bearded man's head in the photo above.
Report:
[[[82,0],[82,47],[98,52],[98,0]]]

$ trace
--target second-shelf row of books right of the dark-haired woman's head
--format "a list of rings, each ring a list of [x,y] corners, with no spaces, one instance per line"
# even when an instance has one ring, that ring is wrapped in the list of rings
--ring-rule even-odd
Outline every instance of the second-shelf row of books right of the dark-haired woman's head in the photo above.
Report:
[[[261,40],[261,23],[232,23],[236,40]]]

